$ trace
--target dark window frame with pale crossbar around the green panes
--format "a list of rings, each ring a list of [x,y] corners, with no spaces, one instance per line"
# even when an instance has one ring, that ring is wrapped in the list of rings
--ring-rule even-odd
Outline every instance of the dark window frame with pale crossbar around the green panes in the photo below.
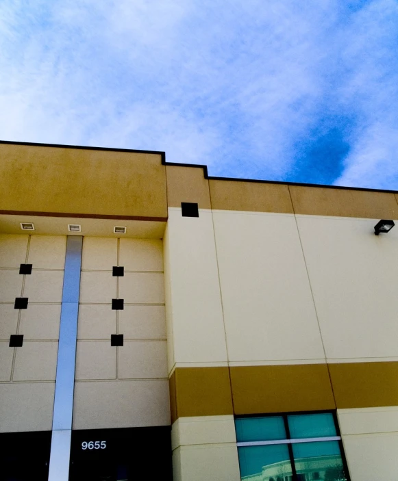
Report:
[[[336,436],[325,436],[325,437],[317,437],[317,438],[301,438],[295,439],[290,436],[290,429],[288,424],[288,416],[300,416],[300,415],[311,415],[311,414],[331,414],[334,421],[334,427],[336,428]],[[297,476],[296,466],[295,466],[295,458],[293,455],[293,444],[295,443],[314,443],[314,442],[323,442],[323,441],[337,441],[338,447],[340,448],[340,455],[341,460],[343,463],[344,473],[346,475],[346,480],[351,481],[349,476],[349,469],[347,464],[347,458],[345,457],[344,445],[343,445],[343,437],[341,436],[340,426],[338,424],[338,417],[337,411],[324,409],[320,411],[288,411],[283,413],[256,413],[256,414],[247,414],[247,415],[234,415],[234,423],[236,419],[248,419],[251,417],[282,417],[284,421],[284,428],[286,431],[286,439],[275,439],[274,441],[236,441],[236,447],[250,447],[250,446],[259,446],[259,445],[278,445],[278,444],[285,444],[288,447],[290,465],[292,467],[292,479],[293,481],[299,481]],[[235,428],[236,430],[236,428]],[[293,441],[293,443],[291,442]],[[239,459],[238,459],[239,460]],[[240,461],[239,461],[239,471],[240,471]]]

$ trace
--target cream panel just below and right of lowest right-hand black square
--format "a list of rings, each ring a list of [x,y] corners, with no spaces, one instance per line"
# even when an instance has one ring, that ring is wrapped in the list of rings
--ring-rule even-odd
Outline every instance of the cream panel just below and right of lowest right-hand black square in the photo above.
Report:
[[[119,348],[119,378],[166,377],[166,341],[124,341]]]

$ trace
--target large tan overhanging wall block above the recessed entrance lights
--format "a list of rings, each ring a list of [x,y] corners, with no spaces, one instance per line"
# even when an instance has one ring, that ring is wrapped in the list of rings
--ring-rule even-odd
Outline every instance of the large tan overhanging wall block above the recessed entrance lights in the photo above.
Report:
[[[167,217],[160,154],[0,144],[0,209]]]

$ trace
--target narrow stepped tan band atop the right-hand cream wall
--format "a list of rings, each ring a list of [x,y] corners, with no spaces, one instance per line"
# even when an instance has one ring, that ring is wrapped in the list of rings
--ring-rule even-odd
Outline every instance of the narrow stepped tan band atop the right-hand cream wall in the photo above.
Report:
[[[166,166],[166,183],[169,207],[192,202],[199,209],[398,218],[398,194],[393,192],[206,179],[203,169],[187,166]]]

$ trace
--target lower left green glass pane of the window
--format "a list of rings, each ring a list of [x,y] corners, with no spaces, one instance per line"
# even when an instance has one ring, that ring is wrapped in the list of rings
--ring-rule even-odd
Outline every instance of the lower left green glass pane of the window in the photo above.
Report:
[[[242,480],[291,480],[292,467],[286,444],[238,447],[238,455]],[[250,478],[245,478],[246,476]],[[252,476],[258,478],[251,478]]]

